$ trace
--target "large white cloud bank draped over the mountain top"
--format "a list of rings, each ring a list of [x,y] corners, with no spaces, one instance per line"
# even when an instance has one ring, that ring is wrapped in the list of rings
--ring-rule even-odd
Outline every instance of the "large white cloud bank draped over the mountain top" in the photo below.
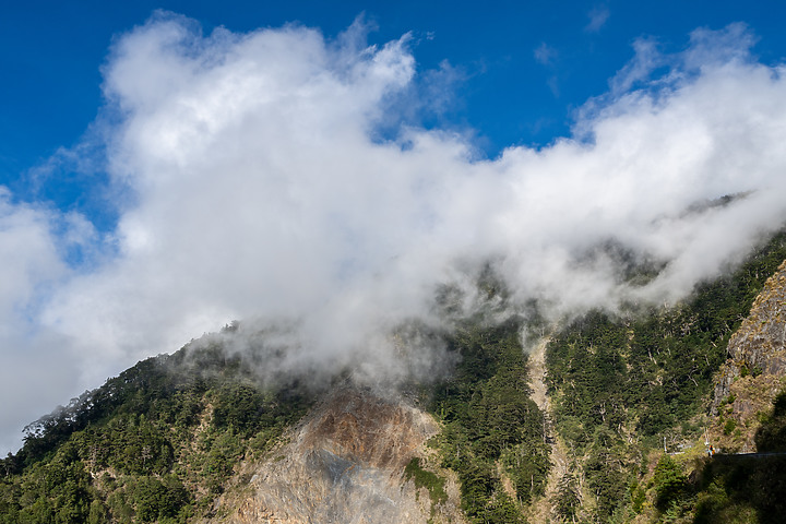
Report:
[[[385,368],[380,334],[428,315],[467,267],[495,261],[553,318],[674,302],[786,219],[784,69],[754,59],[742,26],[698,31],[675,56],[639,45],[571,138],[491,159],[395,124],[428,72],[406,35],[364,35],[205,36],[158,13],[116,40],[91,136],[117,228],[99,238],[84,216],[0,194],[8,449],[66,395],[234,319],[295,321],[290,366]],[[724,195],[739,196],[711,205]],[[609,245],[665,270],[628,285]],[[69,263],[74,247],[90,260]]]

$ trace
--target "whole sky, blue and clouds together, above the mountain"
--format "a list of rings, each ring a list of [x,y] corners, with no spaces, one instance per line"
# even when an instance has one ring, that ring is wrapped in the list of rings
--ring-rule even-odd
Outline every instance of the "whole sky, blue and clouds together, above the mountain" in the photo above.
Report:
[[[683,298],[786,219],[783,10],[4,7],[0,449],[235,319],[295,322],[273,370],[426,369],[384,333],[489,261],[553,319]]]

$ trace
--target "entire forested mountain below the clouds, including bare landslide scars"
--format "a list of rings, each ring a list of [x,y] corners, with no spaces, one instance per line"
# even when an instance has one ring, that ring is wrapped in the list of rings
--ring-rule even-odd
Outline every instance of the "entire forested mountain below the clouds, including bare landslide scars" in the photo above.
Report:
[[[777,522],[785,259],[782,233],[677,306],[557,323],[489,266],[479,308],[443,289],[392,335],[446,356],[394,385],[271,379],[275,334],[228,325],[31,424],[0,523]]]

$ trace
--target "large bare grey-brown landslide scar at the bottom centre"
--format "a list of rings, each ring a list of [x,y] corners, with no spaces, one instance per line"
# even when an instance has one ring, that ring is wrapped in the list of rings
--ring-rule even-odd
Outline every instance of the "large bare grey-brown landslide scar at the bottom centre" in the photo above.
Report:
[[[247,487],[224,500],[231,523],[463,522],[455,483],[446,503],[406,479],[414,456],[428,463],[439,428],[427,414],[354,389],[331,395],[267,462],[249,466]]]

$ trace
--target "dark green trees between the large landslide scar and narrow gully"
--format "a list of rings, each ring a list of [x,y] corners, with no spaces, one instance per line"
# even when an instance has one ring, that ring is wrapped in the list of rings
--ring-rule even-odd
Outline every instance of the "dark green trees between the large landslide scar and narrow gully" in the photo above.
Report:
[[[443,465],[458,474],[462,508],[473,522],[517,522],[516,502],[545,488],[549,449],[544,415],[529,398],[521,326],[517,318],[490,326],[464,323],[449,340],[461,355],[456,372],[436,388],[431,403],[445,425],[439,438]],[[502,490],[498,463],[517,501]]]

